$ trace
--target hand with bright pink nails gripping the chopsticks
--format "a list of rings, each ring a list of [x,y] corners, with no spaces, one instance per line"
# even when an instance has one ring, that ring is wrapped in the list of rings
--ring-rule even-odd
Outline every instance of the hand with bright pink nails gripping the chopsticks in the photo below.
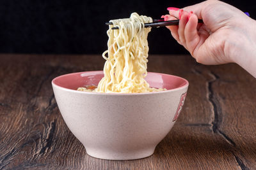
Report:
[[[236,62],[256,78],[256,21],[243,11],[221,1],[209,0],[182,9],[169,10],[164,20],[180,19],[168,26],[173,38],[197,62]],[[198,18],[204,24],[198,24]]]

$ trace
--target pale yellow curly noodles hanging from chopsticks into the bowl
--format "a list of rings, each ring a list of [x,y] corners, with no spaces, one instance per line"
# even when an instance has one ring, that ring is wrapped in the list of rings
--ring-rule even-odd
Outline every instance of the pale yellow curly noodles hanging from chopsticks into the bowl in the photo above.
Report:
[[[149,87],[144,79],[147,76],[148,32],[144,23],[152,22],[152,18],[132,13],[130,18],[110,20],[107,34],[108,50],[102,53],[106,59],[104,78],[96,89],[80,87],[77,90],[93,92],[141,93],[166,89]],[[111,29],[118,27],[119,29]],[[108,53],[108,57],[106,54]]]

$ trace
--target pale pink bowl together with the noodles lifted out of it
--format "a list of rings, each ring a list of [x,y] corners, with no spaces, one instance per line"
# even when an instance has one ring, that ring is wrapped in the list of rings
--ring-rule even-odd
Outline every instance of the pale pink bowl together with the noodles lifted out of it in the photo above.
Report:
[[[146,29],[142,22],[151,21],[149,17],[136,19],[141,20],[137,32]],[[111,22],[110,27],[120,23]],[[145,39],[132,36],[129,31],[134,26],[129,23],[117,24],[119,32],[108,31],[113,35],[109,34],[108,50],[103,53],[104,71],[70,73],[52,80],[68,128],[88,155],[100,159],[131,160],[152,155],[179,117],[188,90],[184,78],[147,73],[146,33],[150,29],[141,33]],[[128,33],[120,33],[125,25],[130,28],[126,29]],[[84,91],[77,90],[79,87]]]

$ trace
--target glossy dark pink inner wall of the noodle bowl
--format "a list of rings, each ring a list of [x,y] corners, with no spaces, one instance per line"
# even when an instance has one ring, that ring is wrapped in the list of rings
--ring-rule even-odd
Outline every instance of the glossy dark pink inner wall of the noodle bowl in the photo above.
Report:
[[[52,83],[63,88],[76,90],[78,87],[85,87],[86,85],[97,86],[103,76],[103,71],[70,73],[54,78]],[[167,90],[172,90],[188,85],[188,81],[184,78],[162,73],[148,72],[145,80],[149,83],[150,87],[157,89],[165,88]]]

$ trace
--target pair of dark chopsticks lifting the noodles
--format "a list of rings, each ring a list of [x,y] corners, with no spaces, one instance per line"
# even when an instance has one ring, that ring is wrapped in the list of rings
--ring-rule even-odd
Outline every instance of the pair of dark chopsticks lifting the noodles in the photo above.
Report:
[[[145,23],[145,27],[165,27],[170,25],[179,25],[180,20],[168,20],[163,19],[153,20],[153,22]],[[203,23],[203,20],[198,19],[198,23]],[[106,25],[112,25],[112,22],[107,22]],[[112,27],[112,29],[118,29],[118,27]]]

